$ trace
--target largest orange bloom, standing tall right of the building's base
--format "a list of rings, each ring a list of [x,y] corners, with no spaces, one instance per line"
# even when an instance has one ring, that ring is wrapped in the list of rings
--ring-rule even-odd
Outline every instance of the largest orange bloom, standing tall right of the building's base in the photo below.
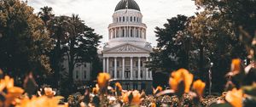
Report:
[[[186,69],[173,71],[169,79],[169,84],[175,92],[178,90],[178,84],[182,81],[184,82],[184,93],[189,93],[190,85],[193,82],[193,75]]]

